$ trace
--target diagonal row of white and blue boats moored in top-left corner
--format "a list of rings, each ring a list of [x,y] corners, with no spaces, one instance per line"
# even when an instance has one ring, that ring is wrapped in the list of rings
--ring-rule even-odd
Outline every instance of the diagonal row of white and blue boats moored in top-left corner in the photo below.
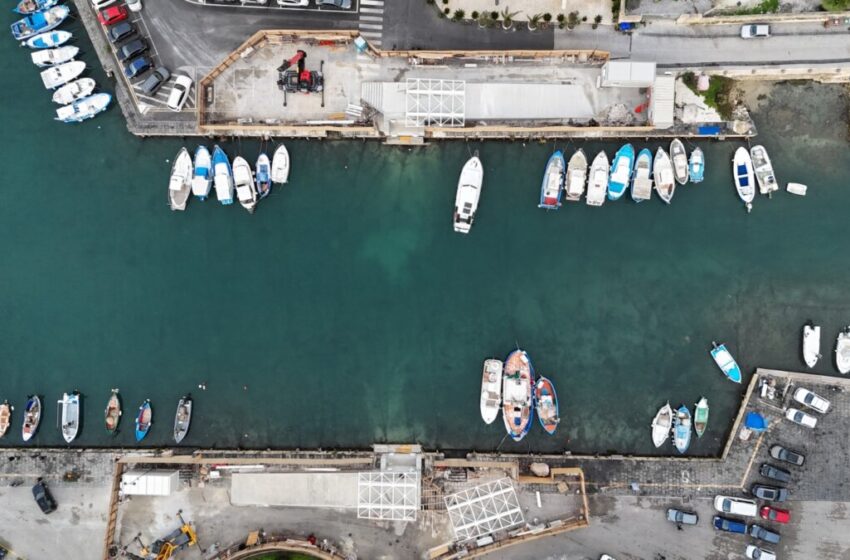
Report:
[[[12,36],[22,41],[33,52],[33,63],[45,68],[41,72],[44,87],[53,91],[56,120],[81,122],[106,110],[112,102],[108,93],[95,93],[97,83],[91,78],[80,78],[86,63],[75,60],[79,47],[68,45],[72,35],[57,30],[71,13],[68,6],[57,5],[58,0],[21,0],[15,11],[24,17],[12,24]]]

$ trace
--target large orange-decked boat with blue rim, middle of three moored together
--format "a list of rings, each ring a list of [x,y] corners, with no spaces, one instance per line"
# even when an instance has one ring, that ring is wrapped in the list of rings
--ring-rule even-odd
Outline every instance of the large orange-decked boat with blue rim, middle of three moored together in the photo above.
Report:
[[[520,441],[534,420],[534,368],[523,350],[508,354],[502,374],[502,420],[511,439]]]

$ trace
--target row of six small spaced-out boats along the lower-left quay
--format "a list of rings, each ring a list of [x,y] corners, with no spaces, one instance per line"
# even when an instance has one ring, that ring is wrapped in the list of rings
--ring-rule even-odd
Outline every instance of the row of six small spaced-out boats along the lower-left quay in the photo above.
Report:
[[[83,399],[78,391],[64,393],[58,401],[59,425],[62,430],[62,437],[67,443],[74,441],[80,433],[80,425],[82,422]],[[0,404],[0,437],[6,435],[9,427],[12,425],[12,412],[14,408],[8,401]],[[41,398],[38,395],[27,397],[27,403],[24,408],[23,424],[21,426],[21,435],[24,441],[29,441],[35,436],[38,427],[41,424],[41,418],[44,413]],[[121,406],[121,398],[118,395],[118,389],[113,389],[106,402],[104,411],[104,425],[106,431],[112,435],[118,433],[118,426],[121,423],[121,415],[123,413]],[[173,437],[175,443],[181,443],[189,433],[189,425],[192,422],[192,397],[184,395],[177,402],[177,411],[174,414],[174,431]],[[135,419],[135,437],[136,441],[142,441],[148,435],[153,424],[153,407],[150,399],[146,399],[136,414]]]

